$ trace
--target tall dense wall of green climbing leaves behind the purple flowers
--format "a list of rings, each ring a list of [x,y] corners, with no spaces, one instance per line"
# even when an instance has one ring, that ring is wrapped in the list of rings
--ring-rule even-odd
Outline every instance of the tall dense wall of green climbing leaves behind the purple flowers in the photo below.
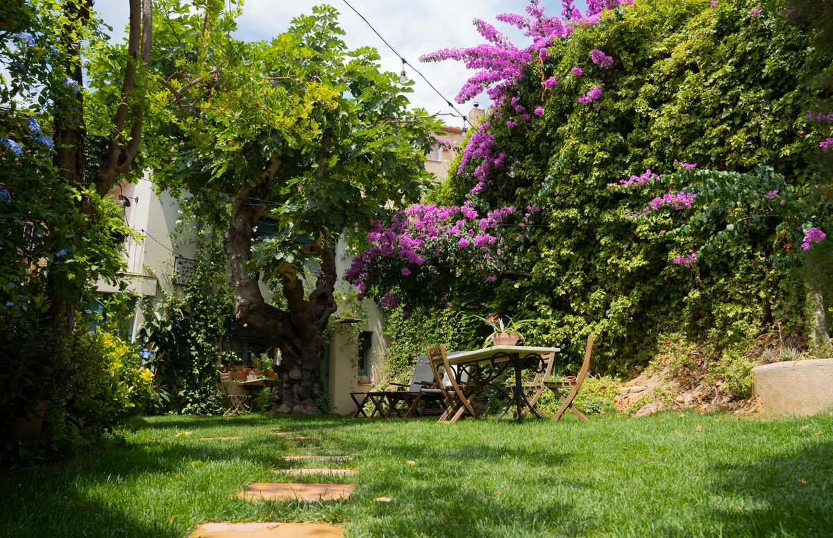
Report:
[[[510,130],[506,119],[513,113],[504,106],[497,111],[501,120],[491,120],[490,132],[515,173],[496,168],[493,186],[481,195],[491,207],[541,205],[541,226],[526,229],[519,252],[519,268],[533,276],[507,277],[495,301],[483,301],[481,287],[467,295],[461,289],[463,301],[539,319],[533,342],[581,350],[594,331],[601,371],[611,373],[644,366],[664,333],[699,342],[711,375],[730,377],[748,373],[757,339],[777,335],[776,324],[781,335],[806,339],[805,286],[773,267],[774,257],[793,249],[776,235],[777,219],[759,219],[746,235],[686,269],[671,258],[689,246],[664,237],[684,212],[631,222],[624,214],[641,211],[650,198],[607,188],[647,168],[672,172],[675,161],[738,172],[767,164],[799,193],[816,182],[809,156],[818,152],[821,132],[805,115],[818,93],[811,75],[830,58],[816,55],[785,10],[766,7],[751,15],[756,6],[637,2],[551,47],[543,66],[516,87],[526,111],[541,106],[543,117]],[[592,49],[613,57],[613,66],[593,65]],[[581,78],[570,75],[574,66],[583,68]],[[559,79],[543,99],[541,68]],[[581,104],[578,98],[596,85],[601,99]],[[453,174],[434,197],[460,203],[474,183],[469,173]],[[738,212],[706,228],[751,217]],[[731,389],[746,391],[743,383]]]

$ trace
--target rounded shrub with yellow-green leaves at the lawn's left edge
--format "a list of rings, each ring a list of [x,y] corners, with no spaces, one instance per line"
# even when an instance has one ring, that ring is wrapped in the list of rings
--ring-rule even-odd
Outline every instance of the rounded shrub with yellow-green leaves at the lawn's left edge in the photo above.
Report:
[[[136,349],[86,326],[45,331],[37,312],[16,314],[0,330],[0,448],[11,461],[67,456],[142,413],[154,395],[153,376]],[[41,434],[24,443],[8,425],[36,401],[49,402],[46,420]]]

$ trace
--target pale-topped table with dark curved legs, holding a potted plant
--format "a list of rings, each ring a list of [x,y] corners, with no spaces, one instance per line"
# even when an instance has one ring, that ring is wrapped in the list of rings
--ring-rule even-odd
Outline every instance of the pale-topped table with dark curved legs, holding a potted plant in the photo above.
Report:
[[[538,346],[491,346],[473,351],[460,351],[448,356],[448,363],[451,366],[488,366],[485,375],[481,375],[477,381],[482,384],[491,385],[509,368],[515,371],[515,390],[512,391],[509,403],[503,410],[498,420],[506,415],[513,406],[516,408],[517,421],[523,421],[524,409],[529,409],[538,418],[542,418],[531,406],[526,398],[523,389],[523,371],[537,369],[541,365],[541,356],[551,353],[558,353],[560,347],[538,347]],[[438,361],[435,361],[439,364]],[[441,366],[441,364],[440,364]],[[458,369],[459,373],[462,369]]]

